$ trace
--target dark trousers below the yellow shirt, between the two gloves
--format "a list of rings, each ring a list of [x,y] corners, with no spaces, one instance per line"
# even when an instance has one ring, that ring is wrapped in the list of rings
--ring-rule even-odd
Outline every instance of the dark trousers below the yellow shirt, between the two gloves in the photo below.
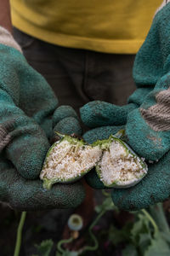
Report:
[[[78,109],[94,100],[123,105],[135,86],[134,55],[113,55],[42,42],[14,28],[27,61],[47,79],[59,105]]]

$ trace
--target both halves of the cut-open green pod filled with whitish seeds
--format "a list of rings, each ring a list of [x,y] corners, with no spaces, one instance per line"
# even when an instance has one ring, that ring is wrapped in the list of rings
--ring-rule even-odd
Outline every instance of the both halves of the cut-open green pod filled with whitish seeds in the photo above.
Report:
[[[65,135],[49,148],[40,178],[50,189],[54,183],[76,181],[94,166],[100,180],[111,188],[131,187],[147,173],[144,161],[116,136],[88,145]]]

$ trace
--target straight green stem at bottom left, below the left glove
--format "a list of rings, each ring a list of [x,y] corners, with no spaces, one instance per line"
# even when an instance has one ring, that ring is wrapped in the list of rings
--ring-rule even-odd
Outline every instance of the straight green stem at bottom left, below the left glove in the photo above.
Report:
[[[14,248],[14,256],[19,256],[19,254],[20,254],[22,229],[23,229],[25,220],[26,220],[26,212],[22,212],[21,217],[20,217],[20,224],[19,224],[18,230],[17,230],[16,243],[15,243],[15,248]]]

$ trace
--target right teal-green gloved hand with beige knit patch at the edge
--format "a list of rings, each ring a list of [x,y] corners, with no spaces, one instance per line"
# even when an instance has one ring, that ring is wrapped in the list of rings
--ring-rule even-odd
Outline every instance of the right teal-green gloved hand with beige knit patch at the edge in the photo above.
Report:
[[[170,195],[169,15],[170,3],[167,5],[165,3],[165,6],[157,12],[150,32],[134,61],[133,78],[137,87],[141,90],[142,87],[148,87],[150,92],[148,91],[145,96],[139,96],[139,107],[127,113],[127,122],[126,120],[120,122],[121,117],[114,106],[109,108],[107,105],[104,109],[103,103],[99,105],[97,102],[97,106],[100,107],[96,108],[95,102],[90,102],[81,109],[82,121],[90,127],[124,124],[127,143],[145,160],[155,161],[154,164],[149,164],[148,174],[134,187],[112,189],[114,203],[126,210],[149,207],[158,201],[166,200]],[[133,93],[133,96],[138,90]],[[129,102],[132,101],[133,96],[129,98]],[[122,107],[118,108],[122,109]],[[114,109],[116,111],[112,113]],[[110,132],[116,132],[116,128],[119,127],[96,128],[94,131],[88,131],[84,137],[88,142],[92,142],[96,138],[108,137]],[[108,134],[107,131],[109,131]],[[88,183],[102,188],[96,175],[94,173],[89,175],[91,177],[88,176]]]

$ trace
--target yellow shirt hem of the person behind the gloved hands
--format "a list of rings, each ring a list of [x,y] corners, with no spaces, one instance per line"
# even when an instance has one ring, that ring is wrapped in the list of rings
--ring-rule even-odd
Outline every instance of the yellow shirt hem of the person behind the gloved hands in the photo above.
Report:
[[[11,0],[14,26],[60,46],[135,54],[162,0]]]

